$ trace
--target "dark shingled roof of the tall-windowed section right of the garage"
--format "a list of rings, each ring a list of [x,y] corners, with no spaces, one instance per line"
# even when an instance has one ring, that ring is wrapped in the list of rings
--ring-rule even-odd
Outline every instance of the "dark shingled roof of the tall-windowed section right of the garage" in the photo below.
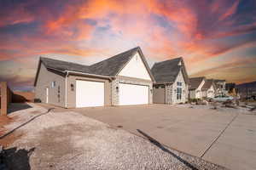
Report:
[[[182,65],[178,65],[179,62]],[[184,80],[188,83],[189,78],[182,57],[155,63],[151,69],[156,82],[175,82],[179,71],[183,72]]]

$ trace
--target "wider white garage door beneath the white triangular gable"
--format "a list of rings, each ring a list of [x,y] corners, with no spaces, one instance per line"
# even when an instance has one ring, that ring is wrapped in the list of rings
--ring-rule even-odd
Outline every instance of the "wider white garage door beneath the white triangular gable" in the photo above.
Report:
[[[148,86],[119,83],[119,105],[148,104]]]

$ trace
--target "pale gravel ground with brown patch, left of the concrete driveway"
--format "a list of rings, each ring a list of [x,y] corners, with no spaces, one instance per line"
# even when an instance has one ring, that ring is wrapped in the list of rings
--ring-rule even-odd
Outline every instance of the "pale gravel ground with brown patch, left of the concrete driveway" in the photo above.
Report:
[[[6,150],[13,169],[224,169],[75,112],[49,112],[18,131]]]

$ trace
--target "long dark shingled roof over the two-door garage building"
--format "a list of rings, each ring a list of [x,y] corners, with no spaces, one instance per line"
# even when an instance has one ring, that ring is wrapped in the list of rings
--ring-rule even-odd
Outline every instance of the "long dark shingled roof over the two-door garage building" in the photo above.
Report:
[[[102,60],[101,62],[98,62],[94,65],[79,65],[72,62],[40,57],[38,69],[42,62],[47,69],[52,69],[55,71],[77,71],[84,74],[98,75],[103,77],[116,77],[119,71],[121,71],[125,67],[125,65],[136,53],[139,53],[141,55],[143,64],[145,65],[151,79],[154,81],[154,77],[151,74],[148,63],[143,55],[141,48],[139,47],[131,48],[124,53],[114,55],[113,57]],[[34,84],[36,84],[37,78],[38,71]]]

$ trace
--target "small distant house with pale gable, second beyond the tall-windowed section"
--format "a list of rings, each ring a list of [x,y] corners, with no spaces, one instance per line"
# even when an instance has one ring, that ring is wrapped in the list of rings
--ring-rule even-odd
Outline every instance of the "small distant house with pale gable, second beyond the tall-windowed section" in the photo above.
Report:
[[[205,80],[204,85],[201,88],[203,98],[214,98],[217,94],[216,85],[213,79]]]

